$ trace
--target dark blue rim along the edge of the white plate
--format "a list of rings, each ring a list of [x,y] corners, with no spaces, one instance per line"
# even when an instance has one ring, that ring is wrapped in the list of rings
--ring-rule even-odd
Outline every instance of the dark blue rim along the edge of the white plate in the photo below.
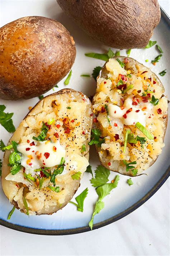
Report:
[[[170,27],[170,18],[165,13],[165,11],[160,7],[161,9],[161,18],[164,19],[165,23]],[[131,207],[127,208],[125,211],[107,219],[104,221],[101,221],[97,224],[93,225],[93,230],[101,228],[103,226],[106,226],[108,224],[111,224],[117,220],[122,219],[123,217],[127,216],[134,210],[136,210],[138,207],[143,205],[149,198],[151,198],[158,189],[165,183],[165,181],[170,176],[170,167],[166,170],[165,174],[161,177],[161,179],[155,184],[155,186],[144,196],[142,197],[138,202],[136,202]],[[87,231],[90,231],[89,226],[81,227],[81,228],[75,228],[75,229],[65,229],[65,230],[51,230],[51,229],[34,229],[34,228],[28,228],[25,226],[20,226],[16,224],[9,223],[7,221],[4,221],[0,219],[0,225],[5,226],[6,228],[14,229],[17,231],[25,232],[25,233],[31,233],[31,234],[37,234],[37,235],[71,235],[71,234],[78,234],[78,233],[84,233]]]

